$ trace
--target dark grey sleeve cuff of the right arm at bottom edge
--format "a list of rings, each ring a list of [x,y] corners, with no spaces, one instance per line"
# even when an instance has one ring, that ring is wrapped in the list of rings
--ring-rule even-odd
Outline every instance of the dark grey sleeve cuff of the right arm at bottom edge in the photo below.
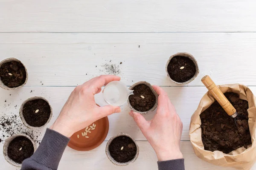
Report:
[[[184,159],[158,161],[158,170],[185,170]]]

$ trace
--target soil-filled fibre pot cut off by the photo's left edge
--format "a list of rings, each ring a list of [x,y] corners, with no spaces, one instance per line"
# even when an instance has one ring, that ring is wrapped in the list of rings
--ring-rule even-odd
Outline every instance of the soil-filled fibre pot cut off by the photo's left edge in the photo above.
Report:
[[[25,65],[15,58],[0,62],[0,87],[6,90],[20,88],[26,84],[28,73]]]

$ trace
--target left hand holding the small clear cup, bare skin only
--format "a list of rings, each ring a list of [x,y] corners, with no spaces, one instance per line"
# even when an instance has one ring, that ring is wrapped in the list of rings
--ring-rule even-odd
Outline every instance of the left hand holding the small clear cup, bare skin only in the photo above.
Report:
[[[94,99],[94,95],[101,92],[103,85],[119,80],[120,77],[117,76],[102,75],[77,86],[70,94],[61,109],[61,113],[50,129],[70,137],[73,133],[89,126],[96,120],[112,113],[121,112],[121,108],[118,106],[107,105],[99,107]]]

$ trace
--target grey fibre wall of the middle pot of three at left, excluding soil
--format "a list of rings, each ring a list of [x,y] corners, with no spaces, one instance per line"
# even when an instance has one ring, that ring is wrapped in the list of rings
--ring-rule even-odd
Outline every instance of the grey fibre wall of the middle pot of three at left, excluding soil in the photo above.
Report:
[[[51,118],[52,118],[52,107],[51,107],[51,105],[49,104],[51,113],[50,113],[49,119],[47,120],[47,122],[46,122],[44,125],[42,125],[42,126],[40,126],[40,127],[34,127],[34,126],[29,125],[29,124],[26,122],[26,120],[24,119],[24,116],[23,116],[23,108],[24,108],[24,105],[26,104],[26,102],[29,102],[29,101],[32,101],[32,100],[35,100],[35,99],[43,99],[44,101],[46,101],[46,102],[49,104],[49,102],[47,101],[47,99],[45,99],[44,97],[39,97],[39,96],[34,96],[34,97],[29,98],[29,99],[26,99],[26,100],[22,103],[22,105],[20,106],[20,118],[21,118],[23,124],[24,124],[26,127],[28,127],[29,129],[38,129],[38,128],[44,127],[45,125],[47,125],[47,124],[50,122],[50,120],[51,120]],[[35,112],[37,112],[37,111],[35,111]],[[35,113],[35,114],[36,114],[36,113]]]

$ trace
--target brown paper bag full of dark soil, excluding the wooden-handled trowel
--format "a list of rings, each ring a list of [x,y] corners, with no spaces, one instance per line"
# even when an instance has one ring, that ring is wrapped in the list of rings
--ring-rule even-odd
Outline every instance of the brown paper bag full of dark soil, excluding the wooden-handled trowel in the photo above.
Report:
[[[255,96],[240,84],[218,87],[238,112],[236,123],[208,91],[191,117],[190,141],[209,163],[249,170],[256,161]]]

